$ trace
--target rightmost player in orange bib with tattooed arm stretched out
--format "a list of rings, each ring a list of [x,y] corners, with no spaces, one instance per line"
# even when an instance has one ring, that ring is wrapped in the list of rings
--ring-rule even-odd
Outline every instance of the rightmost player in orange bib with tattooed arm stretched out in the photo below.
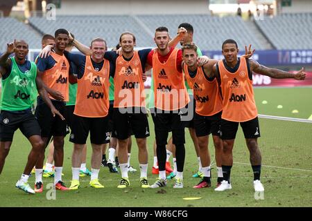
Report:
[[[302,68],[297,73],[288,73],[275,68],[267,68],[257,61],[238,57],[236,41],[227,39],[222,44],[225,59],[218,61],[213,68],[214,76],[220,79],[223,95],[223,113],[220,133],[223,140],[222,169],[223,181],[215,191],[232,189],[230,173],[233,165],[233,146],[239,124],[243,128],[246,144],[250,152],[250,164],[254,173],[254,191],[264,191],[260,182],[261,152],[257,138],[260,137],[257,106],[254,102],[252,72],[272,78],[294,78],[304,80],[306,73]]]

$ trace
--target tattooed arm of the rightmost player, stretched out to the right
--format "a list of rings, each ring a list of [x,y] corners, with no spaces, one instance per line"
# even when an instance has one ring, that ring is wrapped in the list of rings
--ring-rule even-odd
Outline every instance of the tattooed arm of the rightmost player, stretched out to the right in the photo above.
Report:
[[[297,73],[289,73],[284,70],[279,70],[276,68],[268,68],[259,64],[257,61],[250,60],[250,70],[258,73],[260,75],[266,75],[268,77],[283,79],[283,78],[294,78],[297,80],[304,80],[306,78],[306,73],[304,68],[302,68]]]

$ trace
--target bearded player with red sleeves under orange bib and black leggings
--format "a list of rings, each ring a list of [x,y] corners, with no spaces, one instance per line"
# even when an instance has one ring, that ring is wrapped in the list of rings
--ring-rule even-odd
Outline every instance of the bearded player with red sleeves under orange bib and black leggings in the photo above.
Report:
[[[182,51],[168,46],[168,28],[155,30],[157,50],[148,55],[148,64],[153,66],[154,82],[154,115],[156,151],[159,166],[159,177],[152,188],[166,186],[166,143],[168,131],[173,133],[173,144],[177,158],[177,179],[174,188],[182,188],[182,176],[185,158],[184,122],[181,118],[189,103],[189,95],[182,75]]]

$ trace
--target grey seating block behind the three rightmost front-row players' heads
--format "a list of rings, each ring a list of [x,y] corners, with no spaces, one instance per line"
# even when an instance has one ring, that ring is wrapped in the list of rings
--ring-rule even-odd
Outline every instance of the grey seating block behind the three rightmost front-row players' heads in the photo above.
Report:
[[[148,15],[138,17],[153,32],[159,26],[166,26],[171,36],[176,35],[177,26],[180,23],[191,23],[194,28],[194,42],[205,50],[221,50],[225,39],[235,39],[239,48],[243,48],[245,44],[252,44],[254,48],[263,48],[241,17],[212,17],[209,15]]]

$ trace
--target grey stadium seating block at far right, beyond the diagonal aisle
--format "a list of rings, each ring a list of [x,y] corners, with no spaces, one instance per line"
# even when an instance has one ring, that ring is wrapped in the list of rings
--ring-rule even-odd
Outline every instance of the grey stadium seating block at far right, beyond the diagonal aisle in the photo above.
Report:
[[[312,48],[312,13],[264,17],[256,23],[276,49]]]

